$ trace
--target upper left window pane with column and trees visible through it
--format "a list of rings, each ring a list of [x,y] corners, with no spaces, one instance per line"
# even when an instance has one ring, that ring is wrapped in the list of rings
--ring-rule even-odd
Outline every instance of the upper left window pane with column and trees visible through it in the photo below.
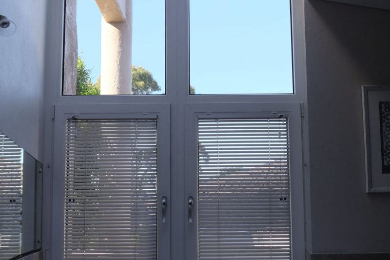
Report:
[[[165,1],[66,0],[62,93],[165,94]]]

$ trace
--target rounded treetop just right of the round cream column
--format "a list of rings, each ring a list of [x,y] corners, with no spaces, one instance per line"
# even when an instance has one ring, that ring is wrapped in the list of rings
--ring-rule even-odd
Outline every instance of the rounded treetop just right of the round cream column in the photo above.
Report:
[[[131,89],[134,95],[149,95],[161,90],[152,73],[141,66],[132,66]]]

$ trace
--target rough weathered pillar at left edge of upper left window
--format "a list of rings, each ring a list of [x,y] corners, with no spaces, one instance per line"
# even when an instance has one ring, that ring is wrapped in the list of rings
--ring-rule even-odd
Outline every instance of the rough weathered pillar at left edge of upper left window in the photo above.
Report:
[[[63,81],[64,95],[76,95],[78,55],[76,7],[77,1],[66,1]]]

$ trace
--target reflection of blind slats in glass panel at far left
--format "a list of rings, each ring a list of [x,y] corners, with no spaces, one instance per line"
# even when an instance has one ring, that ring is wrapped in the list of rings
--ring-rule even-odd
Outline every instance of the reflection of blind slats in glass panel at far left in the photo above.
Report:
[[[23,149],[0,132],[0,260],[21,254]]]

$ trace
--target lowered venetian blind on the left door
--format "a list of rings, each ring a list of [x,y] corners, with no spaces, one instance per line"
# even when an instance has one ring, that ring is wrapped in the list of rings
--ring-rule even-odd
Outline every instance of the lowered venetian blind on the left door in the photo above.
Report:
[[[65,260],[156,260],[156,120],[68,120]]]

